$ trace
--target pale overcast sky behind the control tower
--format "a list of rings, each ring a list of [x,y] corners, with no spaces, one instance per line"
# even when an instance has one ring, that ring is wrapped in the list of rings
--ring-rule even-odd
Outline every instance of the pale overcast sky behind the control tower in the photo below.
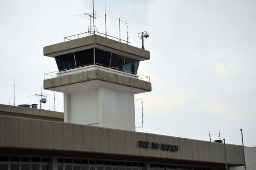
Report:
[[[105,0],[96,0],[99,32],[105,33]],[[86,32],[92,0],[0,0],[0,103],[39,104],[44,74],[57,71],[43,47]],[[190,139],[256,146],[255,0],[106,0],[107,33],[119,37],[119,18],[128,23],[131,45],[144,42],[151,59],[138,73],[148,75],[152,91],[143,98],[144,128],[137,131]],[[126,39],[126,24],[121,23]],[[53,92],[44,109],[53,110]],[[55,93],[63,111],[63,94]],[[136,126],[141,126],[136,101]]]

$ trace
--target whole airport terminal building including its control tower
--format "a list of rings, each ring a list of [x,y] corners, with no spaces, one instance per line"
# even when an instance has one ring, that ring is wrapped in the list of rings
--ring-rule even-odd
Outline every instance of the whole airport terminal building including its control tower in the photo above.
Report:
[[[240,145],[135,131],[134,94],[151,91],[151,82],[137,74],[149,51],[94,34],[48,45],[44,55],[59,70],[44,89],[64,93],[64,113],[0,105],[0,170],[244,166]],[[256,149],[245,148],[246,158],[255,158]]]

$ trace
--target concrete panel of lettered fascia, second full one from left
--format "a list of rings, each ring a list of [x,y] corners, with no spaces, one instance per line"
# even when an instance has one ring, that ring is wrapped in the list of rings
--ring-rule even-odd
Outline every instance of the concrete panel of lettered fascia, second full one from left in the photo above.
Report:
[[[19,118],[18,147],[30,147],[30,119]]]

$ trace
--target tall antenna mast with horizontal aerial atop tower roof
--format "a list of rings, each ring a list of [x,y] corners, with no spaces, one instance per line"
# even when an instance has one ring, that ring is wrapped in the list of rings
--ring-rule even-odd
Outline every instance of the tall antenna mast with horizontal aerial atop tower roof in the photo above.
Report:
[[[93,0],[94,1],[94,0]],[[106,11],[106,10],[105,10]],[[88,13],[84,13],[84,14],[78,14],[78,15],[74,15],[76,17],[82,17],[82,18],[85,18],[87,20],[90,20],[90,30],[88,29],[88,32],[89,31],[92,31],[93,29],[93,34],[95,34],[95,29],[98,31],[97,27],[95,26],[95,23],[96,21],[94,22],[94,19],[97,19],[97,18],[102,18],[101,15],[99,15],[96,10],[94,11],[94,2],[93,2],[93,12],[88,12]],[[93,19],[93,26],[91,26],[91,20]],[[105,12],[105,19],[106,19],[106,12]],[[106,28],[107,29],[107,28]],[[107,32],[107,31],[106,31]],[[89,33],[90,34],[90,33]]]

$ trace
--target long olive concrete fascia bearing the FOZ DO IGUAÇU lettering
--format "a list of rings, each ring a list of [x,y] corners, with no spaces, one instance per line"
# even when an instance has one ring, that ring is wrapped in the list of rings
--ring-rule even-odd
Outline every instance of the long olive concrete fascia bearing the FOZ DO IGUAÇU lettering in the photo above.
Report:
[[[140,147],[139,141],[149,142],[148,148]],[[160,144],[159,149],[152,148],[153,142]],[[177,145],[178,151],[163,150],[161,144]],[[7,147],[225,164],[222,143],[0,116],[0,148]],[[229,165],[244,165],[242,146],[226,144],[226,151]]]

